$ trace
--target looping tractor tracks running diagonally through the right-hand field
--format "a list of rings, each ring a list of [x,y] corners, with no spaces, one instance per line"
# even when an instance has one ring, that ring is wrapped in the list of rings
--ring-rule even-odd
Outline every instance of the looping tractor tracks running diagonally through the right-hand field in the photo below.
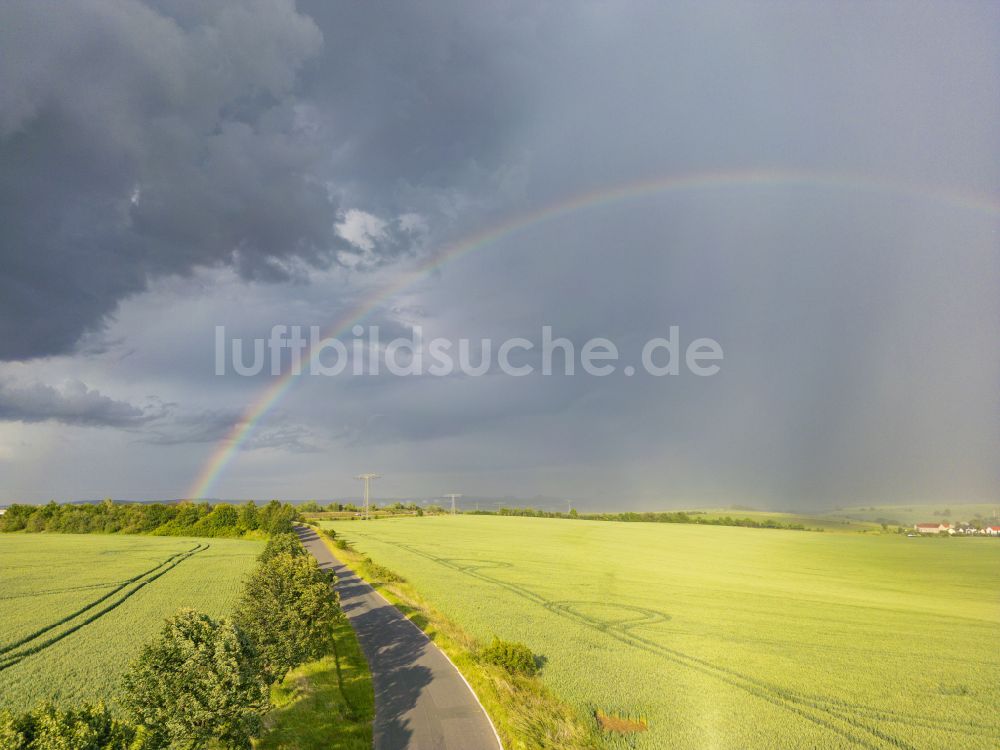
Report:
[[[365,536],[363,533],[361,536]],[[735,687],[749,695],[760,698],[774,706],[785,709],[800,716],[807,721],[826,729],[849,742],[854,743],[866,750],[880,750],[889,746],[900,750],[916,750],[906,740],[892,734],[890,731],[876,726],[876,723],[890,722],[897,724],[914,725],[919,724],[923,728],[935,730],[947,730],[950,732],[961,732],[963,734],[982,734],[982,727],[962,727],[959,728],[954,722],[936,722],[923,716],[909,716],[906,714],[883,711],[872,706],[864,706],[840,701],[832,698],[825,698],[818,695],[797,693],[780,685],[766,680],[743,674],[729,667],[715,664],[707,659],[692,656],[674,648],[664,646],[656,641],[632,632],[634,629],[644,626],[661,624],[670,620],[670,615],[657,610],[630,605],[617,605],[619,608],[627,610],[628,619],[625,620],[602,620],[582,611],[582,606],[607,605],[607,602],[582,602],[582,601],[552,601],[535,593],[534,591],[516,583],[502,581],[491,575],[483,573],[483,570],[496,568],[511,568],[510,563],[494,560],[474,560],[467,558],[445,558],[425,552],[409,544],[401,542],[390,542],[378,540],[384,544],[391,544],[411,554],[423,557],[439,565],[454,570],[462,575],[475,578],[492,586],[503,588],[516,596],[545,608],[549,612],[560,617],[569,619],[577,624],[599,631],[615,638],[616,640],[641,649],[648,653],[668,659],[680,666],[693,669],[720,680],[727,685]],[[1000,737],[1000,735],[997,735]]]

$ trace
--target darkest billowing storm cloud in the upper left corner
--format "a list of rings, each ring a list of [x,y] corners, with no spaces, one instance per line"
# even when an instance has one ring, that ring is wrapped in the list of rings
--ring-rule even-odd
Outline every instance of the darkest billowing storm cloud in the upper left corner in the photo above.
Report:
[[[321,44],[287,2],[5,5],[0,357],[68,350],[151,276],[318,260],[335,206],[292,91]]]

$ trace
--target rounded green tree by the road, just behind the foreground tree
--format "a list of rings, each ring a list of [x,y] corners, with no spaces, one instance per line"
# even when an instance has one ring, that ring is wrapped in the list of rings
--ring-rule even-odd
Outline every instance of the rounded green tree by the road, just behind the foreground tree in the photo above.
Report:
[[[311,555],[277,554],[257,566],[233,615],[246,632],[268,682],[333,647],[341,617],[332,576]]]

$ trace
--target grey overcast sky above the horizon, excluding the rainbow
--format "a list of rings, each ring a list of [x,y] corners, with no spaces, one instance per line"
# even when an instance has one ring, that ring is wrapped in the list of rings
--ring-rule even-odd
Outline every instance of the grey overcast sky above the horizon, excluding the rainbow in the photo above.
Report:
[[[1000,491],[1000,6],[0,7],[0,502],[177,498],[274,381],[214,332],[613,340],[712,377],[304,376],[219,498]],[[451,243],[584,205],[412,276]],[[844,175],[854,175],[849,179]],[[402,283],[401,279],[416,278]],[[525,361],[531,359],[531,355]]]

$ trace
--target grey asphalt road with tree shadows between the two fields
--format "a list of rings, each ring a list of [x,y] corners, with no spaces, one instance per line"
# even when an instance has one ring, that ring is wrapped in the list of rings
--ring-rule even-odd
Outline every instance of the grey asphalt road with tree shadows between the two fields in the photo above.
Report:
[[[475,693],[448,657],[309,527],[302,543],[337,574],[340,604],[368,659],[375,688],[375,750],[502,750]]]

